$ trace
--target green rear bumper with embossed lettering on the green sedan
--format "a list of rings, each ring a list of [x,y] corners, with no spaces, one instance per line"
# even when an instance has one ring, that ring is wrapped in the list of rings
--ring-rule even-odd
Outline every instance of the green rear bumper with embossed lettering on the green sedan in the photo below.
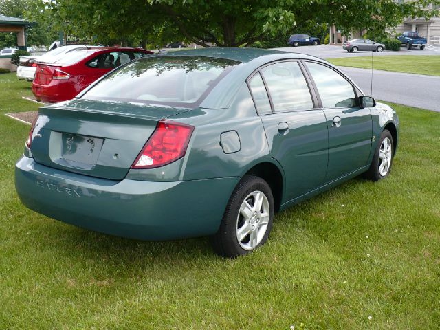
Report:
[[[78,227],[142,240],[217,232],[239,177],[194,181],[112,181],[56,170],[21,157],[15,186],[22,203]]]

